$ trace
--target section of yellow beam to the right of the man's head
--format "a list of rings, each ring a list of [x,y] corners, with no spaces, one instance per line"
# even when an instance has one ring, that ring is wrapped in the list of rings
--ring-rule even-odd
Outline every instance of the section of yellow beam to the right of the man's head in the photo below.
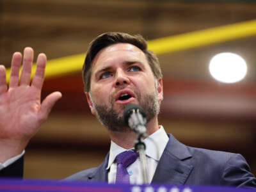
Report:
[[[217,44],[256,35],[256,20],[230,24],[202,31],[158,38],[148,42],[148,48],[156,54],[183,51],[195,47]]]

